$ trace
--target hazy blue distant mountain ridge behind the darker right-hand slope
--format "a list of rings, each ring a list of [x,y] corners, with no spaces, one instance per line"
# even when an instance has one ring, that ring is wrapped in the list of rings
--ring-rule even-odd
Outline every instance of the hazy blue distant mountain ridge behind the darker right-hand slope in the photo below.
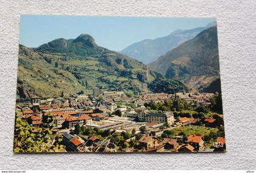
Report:
[[[212,25],[216,25],[216,22],[211,22],[205,27],[197,27],[190,30],[175,30],[169,35],[157,39],[144,39],[126,47],[121,53],[137,59],[144,64],[152,63],[159,56],[165,55],[169,50],[179,46],[188,39],[194,38],[198,33],[208,29]]]

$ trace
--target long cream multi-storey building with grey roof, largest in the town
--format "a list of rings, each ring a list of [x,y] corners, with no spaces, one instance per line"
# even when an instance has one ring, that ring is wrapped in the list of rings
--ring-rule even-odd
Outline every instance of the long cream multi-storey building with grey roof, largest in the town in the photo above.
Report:
[[[154,122],[154,123],[167,123],[169,125],[174,124],[174,115],[172,112],[165,113],[152,113],[147,110],[143,110],[138,113],[139,121]]]

